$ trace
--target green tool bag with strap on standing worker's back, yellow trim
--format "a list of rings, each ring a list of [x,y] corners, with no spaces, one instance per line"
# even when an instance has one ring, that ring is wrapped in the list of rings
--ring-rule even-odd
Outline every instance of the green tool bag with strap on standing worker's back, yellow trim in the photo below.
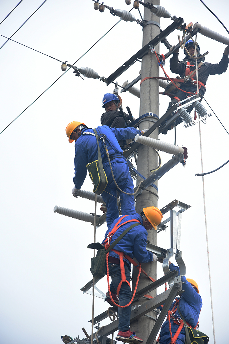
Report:
[[[102,163],[102,158],[101,158],[101,152],[100,152],[100,147],[99,147],[99,140],[98,140],[98,135],[96,132],[96,129],[93,129],[95,133],[95,137],[98,143],[98,160],[95,160],[89,164],[87,164],[87,169],[89,172],[89,176],[94,183],[94,189],[93,192],[96,193],[97,195],[101,195],[101,193],[104,191],[104,189],[107,186],[107,178],[106,178],[106,173],[103,169],[103,163]]]

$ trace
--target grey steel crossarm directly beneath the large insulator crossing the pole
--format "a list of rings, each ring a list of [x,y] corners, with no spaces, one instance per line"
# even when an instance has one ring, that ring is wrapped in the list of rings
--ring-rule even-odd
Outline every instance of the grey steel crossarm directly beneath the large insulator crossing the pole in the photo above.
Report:
[[[161,166],[160,169],[153,172],[148,178],[141,182],[138,192],[135,194],[135,197],[139,195],[143,190],[145,190],[149,185],[151,185],[156,180],[160,179],[165,173],[171,170],[175,165],[181,162],[184,159],[184,154],[178,153],[167,163]],[[134,188],[134,192],[137,190],[138,185]]]

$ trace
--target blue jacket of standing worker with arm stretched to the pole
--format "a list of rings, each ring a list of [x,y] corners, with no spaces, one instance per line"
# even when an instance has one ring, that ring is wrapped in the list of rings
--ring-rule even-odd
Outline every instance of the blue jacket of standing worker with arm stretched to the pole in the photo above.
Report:
[[[101,126],[97,127],[96,129],[98,136],[100,136],[100,133],[106,136],[105,142],[107,144],[109,155],[119,154],[121,159],[125,158],[122,158],[123,151],[118,144],[118,140],[131,139],[134,138],[137,134],[142,135],[141,131],[135,128],[110,128],[108,126]],[[86,178],[87,164],[98,160],[98,144],[96,141],[96,137],[87,132],[91,132],[94,134],[92,128],[85,128],[82,130],[80,137],[75,143],[75,177],[73,178],[73,182],[77,189],[81,188],[84,179]],[[108,159],[102,140],[99,140],[99,146],[102,162],[106,163],[108,162]]]

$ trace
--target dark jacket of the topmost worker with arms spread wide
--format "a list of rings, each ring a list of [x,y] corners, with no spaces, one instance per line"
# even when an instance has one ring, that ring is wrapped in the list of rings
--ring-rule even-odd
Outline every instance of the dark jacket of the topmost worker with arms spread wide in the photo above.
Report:
[[[186,62],[188,61],[190,62],[190,64],[194,65],[193,67],[190,67],[190,72],[196,69],[196,62],[195,59],[191,58],[190,56],[185,57],[183,61],[179,62],[178,55],[178,53],[174,53],[173,56],[170,58],[170,70],[172,73],[179,74],[183,78],[185,76]],[[203,60],[204,58],[202,58],[202,61]],[[199,63],[201,62],[201,60],[197,60],[197,62]],[[222,56],[219,63],[212,64],[209,62],[204,62],[198,70],[198,80],[205,85],[209,75],[222,74],[226,72],[228,63],[229,58],[226,55]],[[196,74],[194,75],[194,79],[196,80]],[[193,84],[190,82],[186,82],[185,85],[190,86]],[[204,86],[201,86],[201,89],[204,89]]]

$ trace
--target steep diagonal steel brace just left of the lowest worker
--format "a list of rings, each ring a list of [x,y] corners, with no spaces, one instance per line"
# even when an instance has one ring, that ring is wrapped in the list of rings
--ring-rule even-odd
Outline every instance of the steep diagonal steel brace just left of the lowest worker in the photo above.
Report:
[[[165,318],[165,316],[167,316],[167,313],[171,307],[171,304],[174,300],[174,297],[177,295],[178,289],[179,289],[179,284],[175,283],[174,286],[172,287],[171,291],[170,291],[170,294],[169,294],[167,300],[164,303],[164,306],[162,308],[162,311],[161,311],[156,323],[153,326],[153,329],[152,329],[152,331],[151,331],[151,333],[150,333],[150,335],[146,341],[146,344],[153,344],[153,342],[156,338],[156,335],[157,335],[158,331],[160,330],[160,327],[164,321],[164,318]]]

